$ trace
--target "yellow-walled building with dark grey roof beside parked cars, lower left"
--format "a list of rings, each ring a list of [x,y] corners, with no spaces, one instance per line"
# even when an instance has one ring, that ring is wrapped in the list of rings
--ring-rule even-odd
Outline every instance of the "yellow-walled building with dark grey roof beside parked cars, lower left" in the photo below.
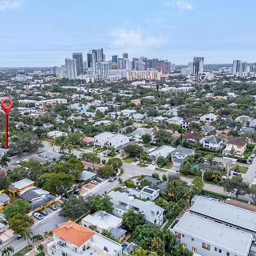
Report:
[[[54,204],[56,199],[56,196],[53,196],[50,192],[37,187],[23,189],[19,193],[19,197],[30,203],[29,210],[31,213],[47,208],[49,205]]]

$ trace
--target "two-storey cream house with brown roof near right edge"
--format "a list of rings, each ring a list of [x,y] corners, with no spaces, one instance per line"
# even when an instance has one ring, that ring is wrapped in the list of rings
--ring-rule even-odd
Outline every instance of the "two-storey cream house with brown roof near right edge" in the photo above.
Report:
[[[224,155],[236,155],[240,158],[243,158],[243,153],[246,150],[246,146],[248,144],[248,139],[246,137],[235,137],[232,139],[229,139],[228,142],[226,142],[226,147],[222,151],[222,154]]]

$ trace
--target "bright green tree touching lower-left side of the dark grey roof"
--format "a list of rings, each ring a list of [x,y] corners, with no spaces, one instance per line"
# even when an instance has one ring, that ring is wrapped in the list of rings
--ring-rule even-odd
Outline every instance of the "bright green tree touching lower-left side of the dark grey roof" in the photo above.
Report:
[[[26,214],[30,208],[30,203],[23,199],[16,199],[12,204],[7,205],[3,209],[3,214],[7,220],[14,217],[16,214]]]

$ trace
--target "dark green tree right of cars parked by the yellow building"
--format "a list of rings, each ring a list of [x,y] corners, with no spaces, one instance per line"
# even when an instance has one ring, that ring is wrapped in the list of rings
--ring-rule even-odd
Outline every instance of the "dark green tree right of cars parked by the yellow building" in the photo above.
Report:
[[[64,201],[61,205],[59,215],[65,218],[80,218],[89,211],[89,202],[84,197],[70,196],[69,201]]]

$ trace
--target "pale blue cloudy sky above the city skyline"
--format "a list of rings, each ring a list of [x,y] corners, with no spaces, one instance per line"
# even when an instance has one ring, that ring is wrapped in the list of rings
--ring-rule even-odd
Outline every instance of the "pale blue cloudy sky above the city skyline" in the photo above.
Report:
[[[0,0],[0,67],[51,67],[72,52],[187,64],[256,61],[255,0]]]

